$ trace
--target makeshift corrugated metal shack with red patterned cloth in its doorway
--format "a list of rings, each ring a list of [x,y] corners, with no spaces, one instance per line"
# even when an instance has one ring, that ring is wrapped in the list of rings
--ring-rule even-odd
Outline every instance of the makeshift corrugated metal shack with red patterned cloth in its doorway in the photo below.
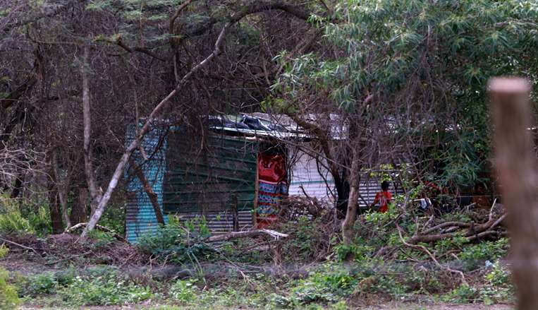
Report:
[[[209,135],[197,143],[181,127],[154,126],[133,154],[165,220],[171,214],[184,221],[203,215],[213,233],[229,232],[274,221],[276,205],[288,194],[334,203],[331,174],[293,146],[309,137],[290,119],[220,116],[209,117],[208,126]],[[133,126],[126,142],[134,137]],[[130,174],[126,179],[126,238],[134,243],[158,225],[140,179]],[[360,190],[365,198],[360,204],[365,205],[379,191],[379,181],[364,181]]]

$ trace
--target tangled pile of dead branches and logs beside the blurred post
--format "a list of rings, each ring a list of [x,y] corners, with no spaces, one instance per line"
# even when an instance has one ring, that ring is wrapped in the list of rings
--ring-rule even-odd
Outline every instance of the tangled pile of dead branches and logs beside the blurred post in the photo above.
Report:
[[[458,238],[459,242],[463,242],[463,244],[471,244],[494,241],[508,235],[503,226],[503,222],[506,220],[506,211],[502,205],[497,203],[491,206],[489,212],[475,210],[471,207],[453,208],[451,213],[444,215],[439,215],[439,213],[428,215],[417,208],[402,208],[399,212],[388,222],[368,224],[364,217],[362,218],[362,237],[367,236],[369,240],[385,239],[388,242],[386,236],[389,236],[394,229],[400,240],[397,245],[381,246],[377,249],[374,257],[383,257],[385,261],[392,260],[398,257],[398,253],[402,251],[405,253],[406,248],[412,249],[424,254],[424,256],[420,259],[409,256],[411,261],[421,263],[421,265],[426,261],[432,261],[440,270],[458,275],[462,283],[466,283],[464,272],[452,268],[448,261],[446,263],[440,263],[440,261],[441,258],[459,260],[456,253],[463,251],[463,249],[451,249],[446,253],[437,253],[436,243]],[[455,217],[460,220],[453,220]]]

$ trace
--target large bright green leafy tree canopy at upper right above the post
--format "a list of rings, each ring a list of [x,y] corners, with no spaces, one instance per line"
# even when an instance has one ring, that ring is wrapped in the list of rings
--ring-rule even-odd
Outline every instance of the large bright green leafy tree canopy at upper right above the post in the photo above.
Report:
[[[428,112],[393,130],[432,145],[417,155],[442,184],[479,181],[490,149],[487,80],[532,78],[537,69],[532,1],[339,0],[333,13],[312,22],[337,56],[312,53],[290,61],[281,53],[276,60],[284,72],[272,89],[291,102],[326,93],[336,110],[360,115],[364,126],[387,115],[410,117],[415,111],[403,100],[421,102]],[[365,100],[372,93],[377,102]],[[447,126],[448,117],[457,123]]]

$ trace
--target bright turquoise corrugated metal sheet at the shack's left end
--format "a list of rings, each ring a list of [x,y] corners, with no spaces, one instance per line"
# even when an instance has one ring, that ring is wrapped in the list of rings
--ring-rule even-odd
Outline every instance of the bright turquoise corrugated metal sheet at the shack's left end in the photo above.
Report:
[[[126,143],[135,138],[135,126],[127,131]],[[142,148],[149,159],[143,162],[140,150],[135,150],[133,159],[139,165],[142,164],[142,172],[152,184],[154,193],[157,194],[159,205],[163,205],[163,179],[166,169],[166,137],[161,129],[152,129],[142,141]],[[127,170],[126,170],[127,171]],[[127,212],[126,212],[126,239],[130,243],[136,243],[143,234],[154,233],[157,229],[157,217],[149,197],[143,190],[142,183],[137,177],[131,177],[127,183]],[[168,218],[164,217],[165,222]]]

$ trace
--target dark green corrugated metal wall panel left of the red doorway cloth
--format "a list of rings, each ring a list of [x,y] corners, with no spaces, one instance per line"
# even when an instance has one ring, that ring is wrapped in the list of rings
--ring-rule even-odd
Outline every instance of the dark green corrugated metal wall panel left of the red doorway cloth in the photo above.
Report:
[[[213,135],[207,151],[185,141],[184,133],[169,135],[164,177],[166,213],[223,212],[254,208],[257,142]]]

